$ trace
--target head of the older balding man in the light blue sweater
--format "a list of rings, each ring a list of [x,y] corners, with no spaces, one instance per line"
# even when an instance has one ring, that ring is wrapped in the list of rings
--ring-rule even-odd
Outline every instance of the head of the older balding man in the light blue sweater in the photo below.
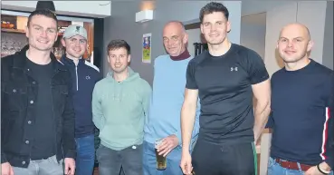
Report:
[[[165,24],[163,30],[164,46],[171,56],[178,56],[186,50],[188,40],[185,25],[179,21]]]

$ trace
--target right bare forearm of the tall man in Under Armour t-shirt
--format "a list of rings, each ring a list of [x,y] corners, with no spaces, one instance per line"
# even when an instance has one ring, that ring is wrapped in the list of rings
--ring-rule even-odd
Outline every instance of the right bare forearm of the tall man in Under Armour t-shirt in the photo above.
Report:
[[[258,103],[255,107],[255,122],[254,122],[254,140],[258,141],[262,131],[265,128],[265,124],[268,122],[268,117],[271,112],[270,104],[261,105]]]

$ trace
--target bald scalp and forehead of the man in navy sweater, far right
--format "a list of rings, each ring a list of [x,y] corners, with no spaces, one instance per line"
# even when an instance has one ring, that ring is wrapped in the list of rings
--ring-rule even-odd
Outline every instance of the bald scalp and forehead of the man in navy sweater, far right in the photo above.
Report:
[[[280,33],[280,38],[285,37],[286,35],[294,37],[302,37],[310,41],[310,30],[304,24],[292,23],[285,25]]]

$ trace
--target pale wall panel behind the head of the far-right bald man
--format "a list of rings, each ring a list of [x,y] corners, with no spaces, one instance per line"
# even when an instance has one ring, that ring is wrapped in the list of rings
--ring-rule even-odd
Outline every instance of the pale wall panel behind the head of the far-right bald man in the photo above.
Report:
[[[310,29],[311,39],[315,42],[310,57],[322,63],[326,6],[326,1],[289,2],[267,11],[264,63],[271,75],[282,66],[276,44],[282,27],[290,23],[305,24]]]

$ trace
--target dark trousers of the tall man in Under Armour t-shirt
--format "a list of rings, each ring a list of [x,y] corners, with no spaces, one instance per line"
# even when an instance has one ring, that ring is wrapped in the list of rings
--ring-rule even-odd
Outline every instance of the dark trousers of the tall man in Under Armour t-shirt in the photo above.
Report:
[[[192,154],[196,175],[255,175],[256,151],[253,143],[215,145],[198,140]]]

